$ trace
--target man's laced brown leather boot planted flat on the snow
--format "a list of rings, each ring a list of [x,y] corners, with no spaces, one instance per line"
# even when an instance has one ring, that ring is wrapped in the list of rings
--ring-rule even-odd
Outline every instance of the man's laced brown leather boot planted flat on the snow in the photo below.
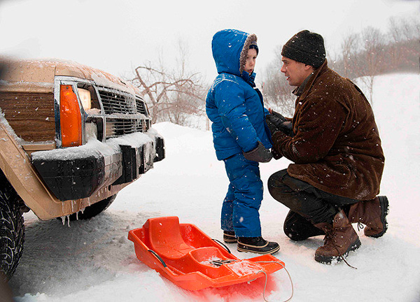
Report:
[[[318,247],[315,252],[315,260],[323,264],[331,264],[333,260],[344,260],[350,251],[357,250],[361,245],[343,210],[335,215],[332,225],[321,222],[315,224],[315,227],[325,232],[324,245]]]

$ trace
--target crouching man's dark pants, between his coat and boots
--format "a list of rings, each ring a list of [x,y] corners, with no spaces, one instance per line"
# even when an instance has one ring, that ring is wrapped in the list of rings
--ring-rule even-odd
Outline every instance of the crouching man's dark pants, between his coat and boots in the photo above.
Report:
[[[340,208],[346,212],[351,204],[359,202],[317,189],[307,182],[291,177],[287,169],[269,177],[268,190],[276,201],[290,208],[283,228],[286,235],[293,240],[322,235],[323,231],[314,227],[314,224],[332,224]]]

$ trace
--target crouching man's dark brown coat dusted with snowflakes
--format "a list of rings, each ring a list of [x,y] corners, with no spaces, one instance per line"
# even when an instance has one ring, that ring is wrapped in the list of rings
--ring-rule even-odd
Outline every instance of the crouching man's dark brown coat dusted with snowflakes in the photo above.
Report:
[[[273,135],[274,150],[290,159],[290,176],[325,192],[357,200],[379,193],[384,153],[372,108],[327,61],[297,97],[293,132]]]

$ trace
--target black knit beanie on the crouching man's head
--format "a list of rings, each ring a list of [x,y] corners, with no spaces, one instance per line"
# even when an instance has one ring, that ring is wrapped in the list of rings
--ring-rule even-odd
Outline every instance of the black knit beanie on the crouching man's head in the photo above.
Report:
[[[283,45],[281,55],[317,69],[325,61],[323,38],[309,30],[299,31]]]

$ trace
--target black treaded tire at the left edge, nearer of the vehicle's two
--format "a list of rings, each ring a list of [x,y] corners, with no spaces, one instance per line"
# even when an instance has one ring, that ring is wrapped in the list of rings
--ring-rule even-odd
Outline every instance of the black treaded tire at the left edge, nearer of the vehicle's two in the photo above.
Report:
[[[22,199],[0,171],[0,270],[10,280],[18,267],[25,241]]]

